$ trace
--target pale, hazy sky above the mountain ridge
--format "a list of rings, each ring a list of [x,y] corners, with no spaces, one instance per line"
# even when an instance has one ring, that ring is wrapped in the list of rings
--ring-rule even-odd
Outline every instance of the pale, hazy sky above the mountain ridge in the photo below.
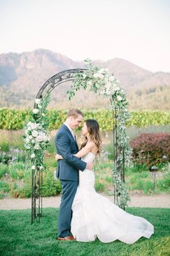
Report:
[[[170,0],[0,0],[0,54],[45,48],[170,72]]]

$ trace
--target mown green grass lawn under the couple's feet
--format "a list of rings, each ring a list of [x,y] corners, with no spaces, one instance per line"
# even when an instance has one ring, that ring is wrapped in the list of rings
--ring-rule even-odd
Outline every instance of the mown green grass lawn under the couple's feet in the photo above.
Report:
[[[157,256],[170,255],[170,210],[163,208],[128,208],[127,211],[147,218],[155,227],[151,239],[135,244],[116,241],[57,241],[58,209],[43,209],[40,224],[30,225],[30,210],[0,210],[0,255],[32,256]],[[102,221],[102,220],[101,220]]]

